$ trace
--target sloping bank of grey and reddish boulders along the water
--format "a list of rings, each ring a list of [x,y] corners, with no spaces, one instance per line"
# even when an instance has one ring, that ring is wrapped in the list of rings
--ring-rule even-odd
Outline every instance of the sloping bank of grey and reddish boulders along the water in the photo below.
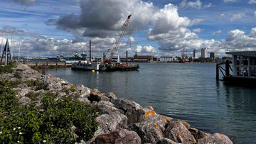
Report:
[[[40,79],[43,75],[27,65],[17,64],[19,79],[21,82]],[[18,80],[14,73],[1,74],[0,80],[9,79],[12,82]],[[26,96],[29,92],[58,94],[58,99],[63,96],[75,96],[75,99],[85,104],[97,106],[100,116],[97,116],[98,129],[94,136],[80,143],[156,143],[156,144],[178,144],[178,143],[233,143],[228,136],[220,133],[205,133],[196,128],[191,128],[186,121],[162,116],[151,106],[142,107],[135,101],[118,98],[114,93],[107,94],[97,89],[84,87],[82,84],[70,84],[64,79],[46,75],[48,90],[32,89],[28,84],[18,84],[15,91],[19,102],[23,105],[32,100]],[[41,103],[40,97],[37,104]]]

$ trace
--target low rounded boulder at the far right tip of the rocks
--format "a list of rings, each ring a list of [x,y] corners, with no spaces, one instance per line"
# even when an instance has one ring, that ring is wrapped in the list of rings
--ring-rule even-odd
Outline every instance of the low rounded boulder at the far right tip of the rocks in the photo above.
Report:
[[[228,136],[220,133],[214,133],[213,135],[208,135],[205,138],[198,139],[198,144],[205,143],[233,144],[233,142],[228,138]]]

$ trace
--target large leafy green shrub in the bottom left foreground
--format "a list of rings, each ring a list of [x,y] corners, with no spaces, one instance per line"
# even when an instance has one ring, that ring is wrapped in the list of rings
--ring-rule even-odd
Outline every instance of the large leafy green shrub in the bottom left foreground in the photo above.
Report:
[[[70,98],[55,98],[54,94],[45,94],[41,106],[32,103],[1,115],[0,143],[75,143],[90,139],[97,130],[97,109]],[[76,127],[74,132],[72,126]]]

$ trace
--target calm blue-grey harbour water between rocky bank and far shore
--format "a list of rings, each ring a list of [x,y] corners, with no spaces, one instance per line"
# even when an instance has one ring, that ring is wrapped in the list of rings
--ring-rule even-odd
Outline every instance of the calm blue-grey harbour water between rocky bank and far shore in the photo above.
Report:
[[[141,63],[139,71],[48,73],[73,84],[114,92],[153,106],[157,113],[187,121],[208,133],[224,133],[234,143],[256,143],[256,89],[215,81],[215,64]]]

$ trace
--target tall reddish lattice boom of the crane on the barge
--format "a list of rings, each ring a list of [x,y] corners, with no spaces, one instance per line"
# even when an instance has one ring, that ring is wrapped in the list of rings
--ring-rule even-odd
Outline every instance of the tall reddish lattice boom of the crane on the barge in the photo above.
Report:
[[[122,40],[122,37],[124,36],[124,33],[127,29],[127,26],[129,24],[129,18],[131,18],[132,14],[130,14],[128,17],[127,17],[127,20],[124,22],[124,25],[122,26],[121,30],[120,30],[120,33],[119,35],[117,35],[117,40],[116,42],[114,43],[114,48],[111,52],[111,55],[110,55],[110,63],[112,63],[112,58],[114,57],[114,53],[117,51],[118,47],[119,47],[119,43],[120,43],[120,40]]]

